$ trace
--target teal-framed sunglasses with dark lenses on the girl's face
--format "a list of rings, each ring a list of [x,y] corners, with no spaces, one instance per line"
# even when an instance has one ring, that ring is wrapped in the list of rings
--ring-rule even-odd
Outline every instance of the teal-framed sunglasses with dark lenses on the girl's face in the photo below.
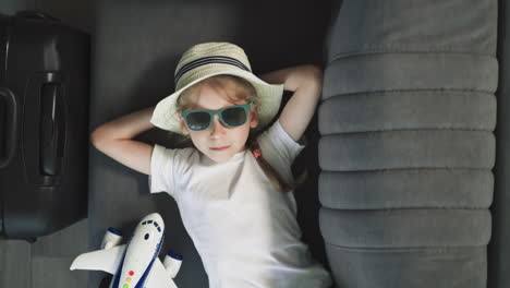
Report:
[[[187,129],[192,131],[203,131],[210,127],[215,115],[218,115],[220,122],[227,128],[240,127],[246,123],[250,109],[254,106],[253,101],[244,105],[234,105],[218,110],[187,110],[182,111],[181,116],[186,123]]]

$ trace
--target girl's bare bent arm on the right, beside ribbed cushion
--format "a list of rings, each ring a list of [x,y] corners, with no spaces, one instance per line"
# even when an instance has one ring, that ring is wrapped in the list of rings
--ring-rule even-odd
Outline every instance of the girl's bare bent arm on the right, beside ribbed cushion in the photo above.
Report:
[[[270,84],[283,83],[294,94],[281,111],[279,121],[283,130],[298,141],[303,135],[323,91],[323,70],[317,65],[296,65],[259,75]]]

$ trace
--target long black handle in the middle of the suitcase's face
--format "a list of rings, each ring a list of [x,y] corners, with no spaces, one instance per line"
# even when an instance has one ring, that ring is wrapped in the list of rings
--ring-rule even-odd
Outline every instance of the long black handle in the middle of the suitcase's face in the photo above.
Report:
[[[64,170],[65,89],[57,72],[37,72],[25,88],[20,146],[28,182],[60,184]]]

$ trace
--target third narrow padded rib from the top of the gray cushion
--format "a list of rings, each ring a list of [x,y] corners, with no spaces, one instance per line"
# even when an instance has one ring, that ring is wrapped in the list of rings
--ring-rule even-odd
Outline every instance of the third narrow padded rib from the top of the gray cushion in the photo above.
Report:
[[[359,132],[327,135],[319,142],[319,164],[329,171],[491,169],[494,161],[495,137],[487,131]]]

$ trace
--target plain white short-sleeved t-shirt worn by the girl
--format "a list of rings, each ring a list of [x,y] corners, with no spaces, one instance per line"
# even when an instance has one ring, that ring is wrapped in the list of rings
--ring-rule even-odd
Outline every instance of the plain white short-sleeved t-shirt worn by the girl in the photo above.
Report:
[[[257,142],[263,157],[292,182],[291,164],[304,146],[279,121]],[[248,149],[214,163],[196,148],[155,145],[149,183],[150,192],[175,199],[210,288],[331,286],[301,241],[293,193],[277,191]]]

